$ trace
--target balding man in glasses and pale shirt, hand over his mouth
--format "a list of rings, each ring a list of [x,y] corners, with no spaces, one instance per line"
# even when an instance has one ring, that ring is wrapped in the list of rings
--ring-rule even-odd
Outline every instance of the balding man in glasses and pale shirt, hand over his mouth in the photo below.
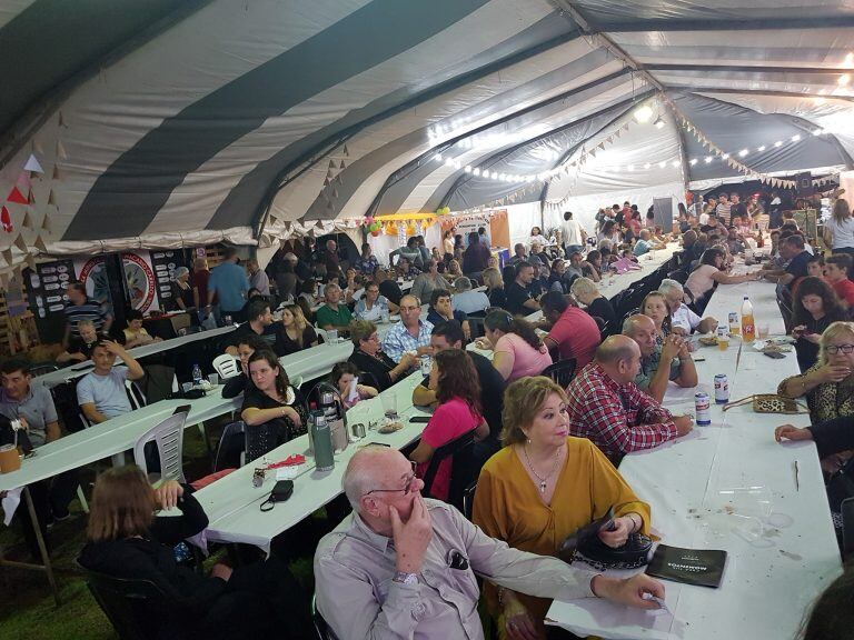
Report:
[[[542,598],[606,598],[654,609],[664,587],[640,573],[626,580],[510,549],[450,504],[425,499],[399,451],[368,446],[344,474],[352,506],[315,553],[317,608],[338,638],[483,640],[476,576]]]

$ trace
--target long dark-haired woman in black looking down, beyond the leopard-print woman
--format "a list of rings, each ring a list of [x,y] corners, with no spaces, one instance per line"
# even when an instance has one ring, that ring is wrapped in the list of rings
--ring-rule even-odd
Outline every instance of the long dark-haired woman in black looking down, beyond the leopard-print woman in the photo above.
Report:
[[[821,278],[804,278],[794,292],[792,304],[792,336],[797,353],[797,366],[806,371],[818,359],[822,333],[831,324],[848,320],[848,312],[827,282]]]

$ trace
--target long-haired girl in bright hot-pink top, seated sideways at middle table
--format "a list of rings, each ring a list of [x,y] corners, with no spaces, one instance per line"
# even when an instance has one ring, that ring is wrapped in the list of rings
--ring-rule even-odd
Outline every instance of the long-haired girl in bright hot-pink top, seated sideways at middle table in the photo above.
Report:
[[[439,351],[430,370],[430,389],[436,390],[438,406],[421,433],[421,441],[409,459],[417,462],[416,473],[424,478],[433,453],[455,438],[475,430],[475,440],[489,436],[489,426],[480,408],[480,382],[474,362],[461,349]],[[447,500],[450,491],[453,460],[446,458],[430,488],[430,497]]]

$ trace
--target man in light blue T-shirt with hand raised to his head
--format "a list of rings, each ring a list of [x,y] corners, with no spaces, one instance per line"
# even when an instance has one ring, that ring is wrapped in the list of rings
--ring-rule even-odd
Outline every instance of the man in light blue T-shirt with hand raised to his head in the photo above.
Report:
[[[113,367],[119,357],[125,367]],[[139,380],[145,370],[130,353],[118,342],[105,340],[92,351],[95,370],[83,376],[77,383],[77,402],[89,422],[98,424],[110,418],[130,413],[125,380]]]

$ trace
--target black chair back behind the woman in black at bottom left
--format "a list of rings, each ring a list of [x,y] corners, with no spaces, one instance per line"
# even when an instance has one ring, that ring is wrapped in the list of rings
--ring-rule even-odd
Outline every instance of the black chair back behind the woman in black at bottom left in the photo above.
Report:
[[[113,578],[80,566],[86,584],[121,640],[151,640],[152,638],[179,638],[177,630],[169,632],[165,618],[151,616],[158,601],[166,599],[160,589],[149,580]]]

